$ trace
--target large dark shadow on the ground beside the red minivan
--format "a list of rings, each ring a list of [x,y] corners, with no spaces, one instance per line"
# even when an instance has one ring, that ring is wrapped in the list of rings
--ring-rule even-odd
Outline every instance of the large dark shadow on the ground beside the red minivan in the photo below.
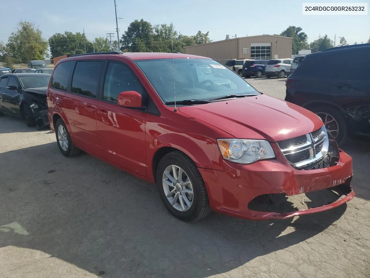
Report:
[[[212,214],[186,223],[166,211],[154,185],[87,154],[65,158],[56,143],[1,153],[0,169],[0,226],[24,229],[0,229],[0,248],[36,249],[104,277],[221,274],[307,241],[347,207],[295,221]]]

